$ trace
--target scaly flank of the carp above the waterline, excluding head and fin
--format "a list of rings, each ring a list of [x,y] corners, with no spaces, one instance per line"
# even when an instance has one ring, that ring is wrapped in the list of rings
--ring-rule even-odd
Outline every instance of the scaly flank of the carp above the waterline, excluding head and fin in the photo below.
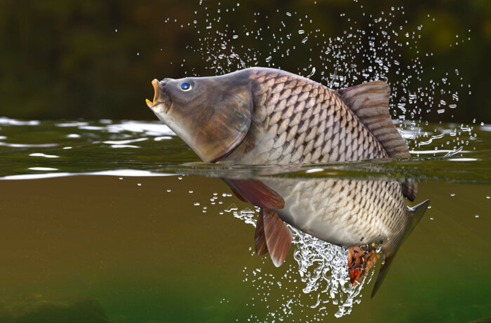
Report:
[[[276,70],[251,69],[253,124],[222,162],[291,164],[389,157],[335,92]]]

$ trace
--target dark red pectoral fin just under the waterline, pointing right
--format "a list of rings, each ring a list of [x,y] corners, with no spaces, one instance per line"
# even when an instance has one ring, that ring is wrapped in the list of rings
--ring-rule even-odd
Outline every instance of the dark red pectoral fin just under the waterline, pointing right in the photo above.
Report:
[[[222,178],[238,199],[264,209],[283,209],[285,201],[260,180]]]

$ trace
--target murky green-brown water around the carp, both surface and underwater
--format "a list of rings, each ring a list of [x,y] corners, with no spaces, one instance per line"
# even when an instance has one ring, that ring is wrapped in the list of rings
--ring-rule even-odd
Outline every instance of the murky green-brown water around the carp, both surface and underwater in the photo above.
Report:
[[[154,122],[0,118],[0,322],[490,317],[491,127],[403,128],[410,160],[291,169],[198,163]],[[375,298],[372,279],[336,318],[349,291],[302,291],[300,271],[326,265],[296,260],[314,242],[296,233],[280,268],[255,256],[255,210],[216,176],[414,179],[431,209]]]

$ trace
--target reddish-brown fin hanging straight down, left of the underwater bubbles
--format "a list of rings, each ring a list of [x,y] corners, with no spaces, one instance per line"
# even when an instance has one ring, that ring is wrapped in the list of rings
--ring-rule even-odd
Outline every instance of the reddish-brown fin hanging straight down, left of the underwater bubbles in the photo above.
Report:
[[[283,220],[278,217],[278,214],[273,211],[262,209],[261,216],[269,256],[271,256],[274,265],[279,267],[285,262],[286,256],[288,255],[288,249],[290,249],[290,244],[292,243],[292,232],[290,232],[290,229],[288,229]],[[262,251],[263,249],[260,250]]]

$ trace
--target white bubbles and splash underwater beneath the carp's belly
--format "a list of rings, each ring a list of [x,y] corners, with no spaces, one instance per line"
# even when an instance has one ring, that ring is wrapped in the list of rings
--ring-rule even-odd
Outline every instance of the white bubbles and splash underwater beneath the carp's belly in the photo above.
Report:
[[[238,210],[234,204],[225,212],[231,212],[235,218],[255,227],[259,208]],[[286,270],[283,275],[278,275],[278,271],[267,272],[267,266],[244,270],[243,281],[257,289],[257,296],[247,304],[267,304],[266,317],[255,317],[257,322],[273,322],[274,319],[288,322],[288,317],[297,312],[305,312],[305,322],[317,322],[330,313],[334,313],[335,317],[349,315],[354,304],[361,303],[361,291],[372,279],[374,270],[371,270],[361,284],[351,286],[347,270],[347,249],[312,237],[290,225],[288,227],[292,231],[292,247],[295,248],[293,258],[296,264],[284,263]],[[252,254],[255,256],[255,253]],[[263,258],[263,264],[267,261],[268,257]],[[298,288],[301,284],[297,281],[303,284],[300,291]],[[289,282],[295,284],[291,286]],[[270,294],[276,294],[272,293],[274,289],[281,289],[281,299],[269,299]]]

